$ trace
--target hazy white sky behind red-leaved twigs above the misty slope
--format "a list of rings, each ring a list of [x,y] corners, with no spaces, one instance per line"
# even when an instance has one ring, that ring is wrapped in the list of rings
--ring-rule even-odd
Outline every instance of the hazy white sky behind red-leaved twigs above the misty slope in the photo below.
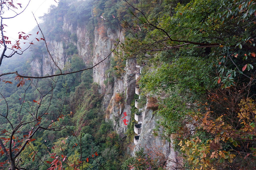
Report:
[[[55,0],[58,2],[59,0]],[[18,32],[25,32],[29,33],[36,26],[35,18],[33,17],[32,12],[35,14],[37,20],[39,21],[38,17],[44,15],[44,13],[48,12],[48,8],[50,5],[57,5],[54,0],[31,0],[26,10],[16,16],[15,18],[11,19],[4,19],[3,24],[6,24],[8,27],[5,27],[5,35],[9,36],[10,41],[16,40],[18,37]],[[14,3],[22,4],[21,11],[26,7],[29,0],[14,0]],[[17,5],[19,7],[19,5]],[[20,7],[19,7],[20,8]],[[21,12],[20,11],[20,12]],[[3,17],[11,17],[14,16],[14,12],[12,11],[5,11]]]

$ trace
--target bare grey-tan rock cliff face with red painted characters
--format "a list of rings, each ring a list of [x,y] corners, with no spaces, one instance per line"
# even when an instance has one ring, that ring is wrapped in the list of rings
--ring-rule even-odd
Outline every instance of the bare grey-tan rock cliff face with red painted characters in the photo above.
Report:
[[[64,38],[60,42],[48,42],[50,53],[54,61],[61,68],[63,68],[63,65],[68,61],[69,57],[66,54],[66,49],[63,44],[67,45],[68,43],[73,43],[77,47],[78,56],[80,56],[87,65],[95,65],[110,54],[120,34],[119,30],[113,30],[104,25],[104,23],[100,23],[95,27],[94,35],[91,36],[87,25],[78,24],[74,27],[72,24],[68,23],[65,18],[62,29],[70,31],[71,34],[76,33],[77,42],[71,42],[69,38]],[[92,40],[90,37],[94,37],[94,39]],[[122,32],[120,39],[121,41],[124,39],[124,33]],[[36,58],[31,61],[32,74],[53,74],[57,68],[51,61],[49,54],[43,53],[40,57],[41,58]],[[109,75],[107,75],[105,71],[110,68],[111,57],[113,57],[113,54],[93,68],[93,81],[99,84],[100,92],[104,94],[102,109],[106,111],[106,121],[112,122],[114,130],[116,130],[121,137],[125,137],[127,126],[124,124],[123,120],[126,119],[129,121],[128,123],[130,123],[131,115],[134,114],[130,111],[130,104],[135,94],[135,72],[139,71],[139,68],[136,68],[136,60],[126,61],[126,66],[129,66],[125,69],[126,74],[120,78],[114,78],[112,82],[106,82],[105,80],[107,80]],[[116,101],[116,95],[120,94],[122,94],[122,100]],[[124,112],[127,113],[127,116],[122,118]],[[152,110],[146,109],[144,111],[141,135],[137,146],[132,152],[133,154],[141,147],[148,149],[156,149],[157,147],[166,158],[168,158],[169,155],[171,159],[173,159],[172,156],[176,156],[175,152],[170,149],[170,143],[159,137],[154,137],[152,134],[158,119],[160,118],[156,117]]]

